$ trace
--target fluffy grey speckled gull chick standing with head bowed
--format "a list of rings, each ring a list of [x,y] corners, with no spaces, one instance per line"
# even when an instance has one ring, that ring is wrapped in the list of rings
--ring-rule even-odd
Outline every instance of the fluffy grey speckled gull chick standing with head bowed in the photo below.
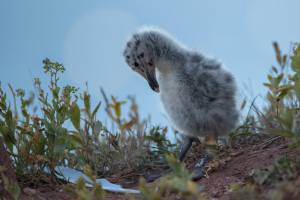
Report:
[[[220,62],[188,49],[156,28],[134,33],[123,55],[131,69],[160,94],[174,128],[186,136],[180,160],[195,138],[216,140],[235,127],[236,84]]]

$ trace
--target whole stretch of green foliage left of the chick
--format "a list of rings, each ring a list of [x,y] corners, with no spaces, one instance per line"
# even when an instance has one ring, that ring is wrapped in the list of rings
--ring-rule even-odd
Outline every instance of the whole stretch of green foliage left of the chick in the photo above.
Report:
[[[38,78],[34,79],[35,93],[29,95],[9,86],[11,104],[0,85],[0,136],[22,181],[39,184],[45,170],[56,181],[57,165],[79,170],[89,165],[98,176],[137,181],[144,169],[156,167],[153,161],[167,165],[163,154],[174,152],[176,146],[166,138],[166,128],[147,128],[133,98],[118,101],[102,91],[105,112],[116,127],[111,131],[98,119],[101,102],[93,106],[88,91],[61,86],[62,64],[49,59],[43,63],[50,79],[48,88]],[[128,102],[125,116],[123,106]]]

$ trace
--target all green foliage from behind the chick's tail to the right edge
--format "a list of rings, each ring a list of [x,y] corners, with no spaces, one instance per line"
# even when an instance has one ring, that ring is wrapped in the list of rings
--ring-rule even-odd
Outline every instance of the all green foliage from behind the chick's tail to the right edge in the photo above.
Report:
[[[273,134],[288,138],[291,147],[300,147],[300,45],[293,45],[293,52],[287,55],[273,43],[277,65],[271,67],[264,83],[266,106],[256,107],[256,98],[251,102],[244,122],[230,134],[233,146],[253,144]],[[242,109],[246,103],[242,103]]]

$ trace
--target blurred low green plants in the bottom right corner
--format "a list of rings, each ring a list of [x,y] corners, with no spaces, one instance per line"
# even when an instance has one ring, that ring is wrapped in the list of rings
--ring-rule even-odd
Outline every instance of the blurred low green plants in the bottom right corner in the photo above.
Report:
[[[266,168],[253,170],[245,183],[231,184],[230,199],[298,199],[299,172],[299,161],[281,157]]]

